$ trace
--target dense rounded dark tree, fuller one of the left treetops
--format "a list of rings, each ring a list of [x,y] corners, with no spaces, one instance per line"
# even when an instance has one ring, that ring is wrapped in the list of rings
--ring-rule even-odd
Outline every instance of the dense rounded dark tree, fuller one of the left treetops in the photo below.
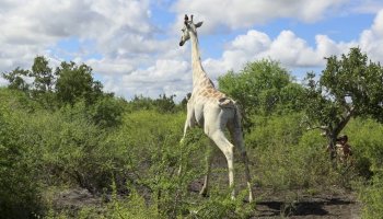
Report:
[[[62,104],[73,105],[83,99],[91,105],[103,95],[102,83],[93,80],[92,68],[84,64],[78,66],[73,61],[63,61],[57,67],[56,74],[57,99]]]

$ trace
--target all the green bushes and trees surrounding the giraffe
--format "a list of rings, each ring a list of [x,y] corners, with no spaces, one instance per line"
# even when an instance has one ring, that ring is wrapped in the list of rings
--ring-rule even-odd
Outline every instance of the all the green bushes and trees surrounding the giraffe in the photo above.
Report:
[[[267,196],[263,191],[283,192],[293,204],[302,194],[332,189],[357,194],[361,216],[381,218],[383,68],[359,48],[326,61],[300,83],[272,60],[219,78],[244,114],[256,191],[251,204],[243,201],[239,162],[240,193],[230,198],[221,154],[209,197],[198,195],[209,140],[194,129],[178,143],[186,99],[127,101],[104,92],[91,67],[65,61],[53,69],[40,56],[31,69],[3,72],[0,218],[251,218]],[[341,134],[352,147],[347,164],[332,152]],[[177,174],[181,162],[186,168]],[[71,191],[85,191],[80,204],[62,204]]]

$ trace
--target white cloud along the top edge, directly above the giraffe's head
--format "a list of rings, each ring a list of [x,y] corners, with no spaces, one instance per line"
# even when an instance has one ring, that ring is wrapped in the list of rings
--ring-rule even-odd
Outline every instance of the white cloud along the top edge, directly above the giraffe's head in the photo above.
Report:
[[[205,20],[205,31],[224,25],[231,30],[263,24],[278,18],[293,18],[303,22],[321,20],[327,11],[346,3],[347,0],[179,0],[173,9],[178,13],[178,22],[184,14],[194,13]]]

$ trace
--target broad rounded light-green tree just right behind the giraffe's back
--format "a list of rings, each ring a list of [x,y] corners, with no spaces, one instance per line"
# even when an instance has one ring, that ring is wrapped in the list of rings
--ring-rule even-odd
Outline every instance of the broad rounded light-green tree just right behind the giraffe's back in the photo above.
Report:
[[[220,90],[241,105],[245,127],[252,125],[246,118],[251,114],[283,114],[303,108],[299,100],[304,89],[294,83],[290,73],[277,61],[248,62],[239,73],[229,71],[218,81]]]

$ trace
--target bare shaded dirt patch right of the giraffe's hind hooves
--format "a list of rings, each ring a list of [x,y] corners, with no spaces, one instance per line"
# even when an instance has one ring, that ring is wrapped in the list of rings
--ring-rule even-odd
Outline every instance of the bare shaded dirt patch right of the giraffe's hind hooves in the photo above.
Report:
[[[301,194],[300,191],[276,193],[260,189],[257,194],[262,198],[256,203],[253,218],[357,219],[361,215],[361,205],[356,195],[341,189],[314,195]]]

